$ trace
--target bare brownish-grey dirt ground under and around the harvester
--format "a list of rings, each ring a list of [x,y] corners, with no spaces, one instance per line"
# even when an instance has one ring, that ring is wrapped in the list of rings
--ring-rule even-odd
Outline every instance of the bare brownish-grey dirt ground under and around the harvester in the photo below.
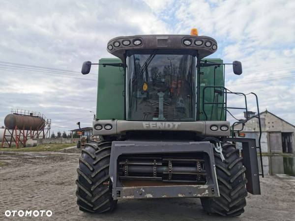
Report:
[[[261,178],[262,195],[247,197],[245,213],[236,218],[208,216],[198,198],[120,200],[113,213],[87,214],[76,205],[78,153],[0,152],[0,220],[6,210],[51,210],[47,220],[190,221],[295,220],[295,178]],[[10,217],[9,220],[40,220]]]

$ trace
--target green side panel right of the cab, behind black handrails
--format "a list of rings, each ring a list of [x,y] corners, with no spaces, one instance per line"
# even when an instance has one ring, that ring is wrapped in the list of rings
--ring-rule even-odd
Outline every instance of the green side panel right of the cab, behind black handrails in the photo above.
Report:
[[[222,59],[219,58],[207,58],[203,59],[207,60],[209,62],[214,63],[223,63]],[[205,97],[203,94],[204,87],[206,86],[224,86],[224,73],[223,73],[223,65],[220,65],[220,67],[217,67],[215,70],[215,85],[214,85],[214,68],[215,66],[211,67],[202,67],[201,72],[204,74],[200,77],[200,120],[225,120],[225,111],[224,111],[224,105],[222,104],[207,104],[204,105],[203,110],[203,99],[207,103],[223,103],[224,102],[224,95],[219,95],[218,93],[214,94],[214,88],[206,88],[205,89]],[[222,89],[223,88],[215,88],[215,89]],[[207,118],[206,118],[206,114]]]

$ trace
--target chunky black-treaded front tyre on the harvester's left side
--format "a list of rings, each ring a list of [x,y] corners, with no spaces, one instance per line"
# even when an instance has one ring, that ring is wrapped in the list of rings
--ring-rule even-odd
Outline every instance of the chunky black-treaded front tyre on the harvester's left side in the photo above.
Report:
[[[112,142],[90,141],[79,158],[77,204],[84,212],[113,211],[117,200],[111,194],[109,166]]]

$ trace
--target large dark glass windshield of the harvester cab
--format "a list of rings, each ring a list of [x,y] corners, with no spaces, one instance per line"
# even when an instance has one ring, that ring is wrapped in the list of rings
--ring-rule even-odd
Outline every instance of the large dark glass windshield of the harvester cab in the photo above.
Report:
[[[138,53],[138,52],[137,52]],[[196,56],[127,54],[126,119],[196,120]]]

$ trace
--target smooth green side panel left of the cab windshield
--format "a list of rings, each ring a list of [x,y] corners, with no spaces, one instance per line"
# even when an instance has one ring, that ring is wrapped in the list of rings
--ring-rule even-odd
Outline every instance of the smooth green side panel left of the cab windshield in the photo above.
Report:
[[[119,58],[101,58],[99,63],[121,63]],[[124,119],[124,70],[122,67],[98,67],[96,119]]]

